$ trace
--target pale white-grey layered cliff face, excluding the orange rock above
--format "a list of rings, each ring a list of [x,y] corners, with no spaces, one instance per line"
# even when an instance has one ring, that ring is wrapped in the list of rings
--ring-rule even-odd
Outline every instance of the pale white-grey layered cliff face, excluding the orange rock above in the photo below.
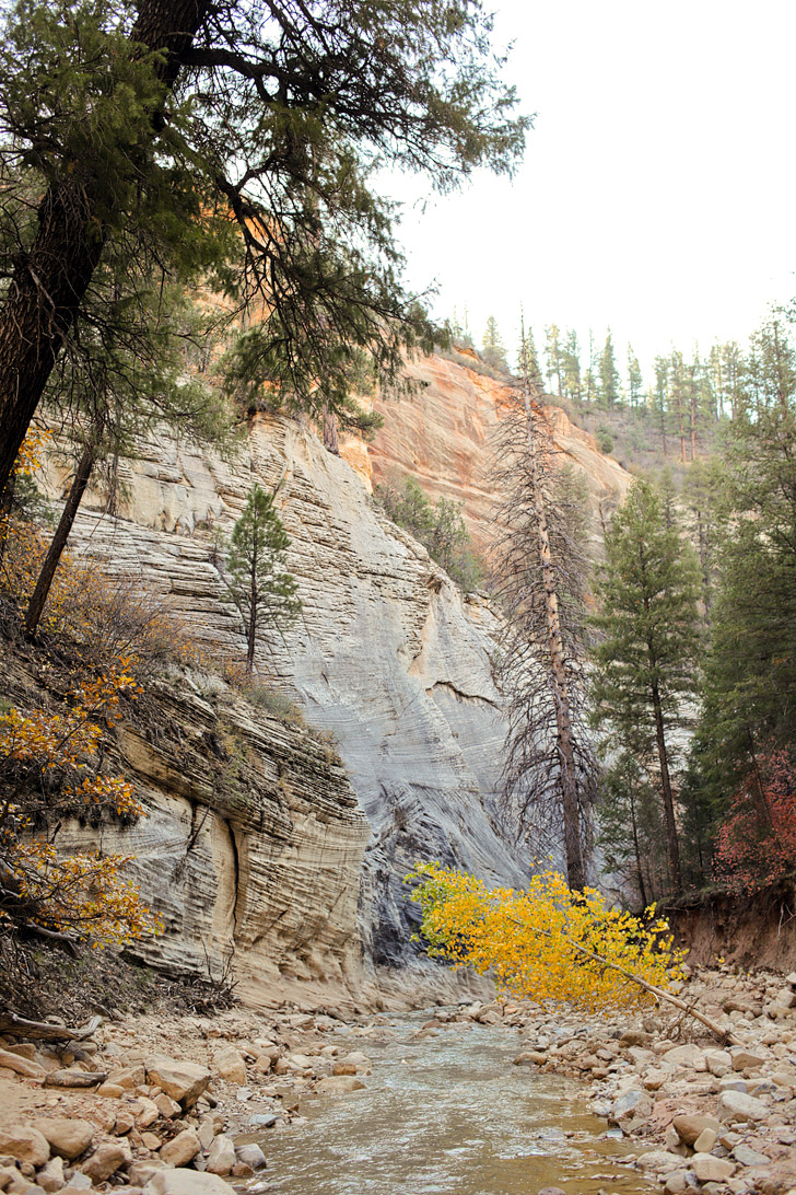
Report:
[[[370,823],[363,860],[362,815],[340,816],[337,795],[325,803],[316,780],[296,798],[289,770],[280,798],[260,804],[257,825],[240,814],[204,819],[203,809],[217,804],[208,777],[181,773],[168,753],[128,735],[124,754],[147,783],[152,815],[127,835],[125,848],[140,857],[143,890],[166,896],[172,961],[196,963],[204,933],[220,955],[224,940],[234,942],[239,962],[241,952],[261,950],[248,998],[266,978],[333,979],[352,991],[363,979],[351,932],[358,887],[366,962],[400,967],[413,950],[402,877],[415,859],[523,884],[526,854],[495,801],[505,727],[489,673],[498,623],[488,603],[464,600],[426,551],[374,508],[353,470],[296,423],[258,417],[232,464],[163,440],[125,480],[124,517],[92,510],[88,497],[75,545],[168,595],[197,639],[241,661],[242,627],[214,564],[212,533],[232,528],[254,482],[280,483],[303,609],[284,641],[260,645],[257,664],[296,697],[310,724],[334,733]],[[166,699],[175,719],[210,733],[204,695],[183,697],[187,715]],[[279,734],[290,740],[288,730]],[[284,747],[271,749],[274,723],[266,713],[241,733],[271,762]],[[285,750],[296,753],[297,743]],[[158,844],[179,836],[184,845],[193,831],[190,851],[166,851],[169,881]],[[323,932],[311,929],[319,891]]]

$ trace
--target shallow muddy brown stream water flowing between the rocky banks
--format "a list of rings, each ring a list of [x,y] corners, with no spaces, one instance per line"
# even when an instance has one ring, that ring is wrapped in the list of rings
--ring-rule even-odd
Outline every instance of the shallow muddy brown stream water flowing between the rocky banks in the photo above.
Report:
[[[427,1013],[426,1013],[427,1016]],[[306,1096],[306,1123],[261,1139],[279,1195],[641,1195],[633,1147],[576,1098],[578,1084],[512,1066],[517,1032],[453,1023],[416,1038],[425,1017],[381,1038],[340,1038],[372,1060],[366,1089]],[[618,1130],[615,1130],[618,1132]],[[641,1152],[641,1151],[638,1151]]]

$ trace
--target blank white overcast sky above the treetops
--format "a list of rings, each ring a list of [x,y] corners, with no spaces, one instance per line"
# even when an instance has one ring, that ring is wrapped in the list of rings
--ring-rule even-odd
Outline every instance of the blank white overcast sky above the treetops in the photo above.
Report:
[[[624,366],[746,339],[796,295],[795,0],[487,0],[536,112],[513,182],[407,210],[408,277],[480,343],[610,325]],[[409,194],[407,191],[407,194]],[[647,382],[648,376],[644,378]]]

